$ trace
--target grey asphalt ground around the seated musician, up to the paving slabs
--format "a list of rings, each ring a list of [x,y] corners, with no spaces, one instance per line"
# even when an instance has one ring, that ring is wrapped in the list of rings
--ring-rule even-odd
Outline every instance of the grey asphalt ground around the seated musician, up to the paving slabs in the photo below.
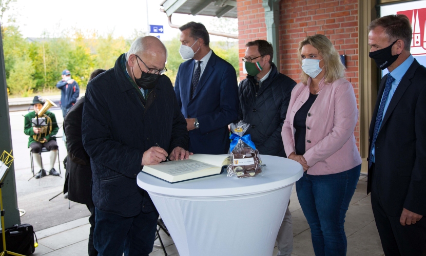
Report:
[[[61,127],[63,122],[62,111],[52,111]],[[10,123],[12,131],[13,156],[15,157],[15,178],[18,207],[24,209],[26,214],[21,217],[21,223],[33,225],[34,230],[42,230],[48,227],[60,225],[75,219],[80,219],[90,215],[85,205],[71,202],[60,196],[49,201],[50,198],[61,193],[64,187],[65,169],[62,161],[67,155],[67,151],[62,138],[57,138],[59,146],[59,159],[56,160],[54,168],[59,172],[58,164],[61,164],[62,178],[56,176],[46,176],[42,179],[28,180],[32,177],[30,150],[28,136],[24,134],[24,117],[28,111],[10,112]],[[62,127],[57,136],[62,136]],[[46,165],[49,153],[42,153],[43,163]]]

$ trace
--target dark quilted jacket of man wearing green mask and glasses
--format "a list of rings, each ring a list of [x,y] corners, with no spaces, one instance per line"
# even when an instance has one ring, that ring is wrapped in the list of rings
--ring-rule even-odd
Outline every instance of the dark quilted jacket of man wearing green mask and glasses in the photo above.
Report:
[[[296,82],[279,73],[274,63],[271,68],[257,95],[253,76],[240,82],[238,120],[250,124],[245,134],[250,134],[260,154],[286,157],[281,129]]]

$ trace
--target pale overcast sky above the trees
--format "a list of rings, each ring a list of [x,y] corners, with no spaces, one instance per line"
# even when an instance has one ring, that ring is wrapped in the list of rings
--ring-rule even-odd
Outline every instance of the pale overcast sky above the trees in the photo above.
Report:
[[[135,29],[147,30],[148,20],[151,25],[164,26],[164,34],[152,35],[160,35],[162,40],[169,40],[180,31],[168,26],[167,15],[160,12],[161,2],[162,0],[17,0],[8,12],[16,17],[16,23],[24,37],[41,37],[44,32],[55,37],[62,31],[78,28],[86,33],[97,31],[100,35],[105,35],[113,31],[114,37],[132,38]],[[207,29],[214,19],[217,18],[184,14],[172,16],[172,22],[176,25],[195,21],[203,23]],[[7,22],[7,17],[4,17],[4,22]],[[210,39],[225,40],[215,36]]]

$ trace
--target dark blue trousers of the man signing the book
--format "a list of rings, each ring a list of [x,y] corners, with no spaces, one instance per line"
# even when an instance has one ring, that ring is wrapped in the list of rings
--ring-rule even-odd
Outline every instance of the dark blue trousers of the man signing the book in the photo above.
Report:
[[[148,256],[154,246],[158,212],[122,217],[95,209],[94,247],[99,256]]]

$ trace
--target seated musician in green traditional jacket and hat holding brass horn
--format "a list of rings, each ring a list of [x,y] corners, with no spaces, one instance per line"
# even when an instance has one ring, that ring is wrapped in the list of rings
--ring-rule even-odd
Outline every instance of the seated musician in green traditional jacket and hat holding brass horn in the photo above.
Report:
[[[43,106],[44,103],[45,100],[43,100],[42,97],[34,97],[31,104],[34,111],[25,115],[24,124],[24,133],[30,136],[28,139],[28,147],[31,147],[34,163],[37,169],[40,169],[40,172],[34,176],[36,179],[48,174],[59,176],[59,173],[56,172],[55,168],[53,168],[57,156],[55,135],[59,130],[59,127],[56,123],[55,114],[47,111],[51,104],[47,103]],[[47,171],[42,166],[41,155],[38,154],[41,152],[43,147],[47,148],[49,151],[49,164],[47,165]]]

